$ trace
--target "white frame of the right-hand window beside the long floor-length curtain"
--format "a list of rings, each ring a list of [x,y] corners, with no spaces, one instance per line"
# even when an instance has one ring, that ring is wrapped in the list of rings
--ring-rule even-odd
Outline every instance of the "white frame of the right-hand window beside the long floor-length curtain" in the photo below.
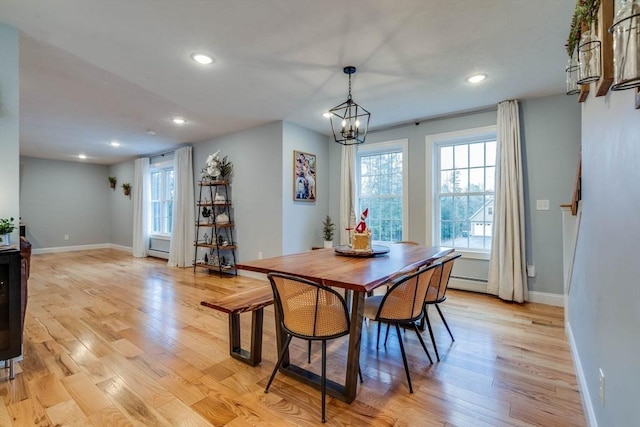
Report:
[[[432,245],[439,246],[440,229],[439,212],[439,182],[440,182],[440,163],[439,148],[443,145],[455,144],[471,144],[473,142],[487,142],[488,140],[497,141],[497,126],[483,126],[471,129],[465,129],[454,132],[444,132],[438,134],[427,135],[426,138],[426,164],[431,164],[431,174],[427,176],[427,200],[432,200],[431,208],[427,209],[427,241]],[[496,144],[497,150],[497,144]],[[498,168],[498,153],[496,151],[496,173]],[[486,193],[484,193],[486,195]],[[495,190],[494,190],[495,197]],[[494,199],[495,200],[495,199]],[[495,209],[495,207],[494,207]],[[429,235],[430,234],[430,235]],[[456,252],[463,253],[465,258],[488,260],[491,255],[491,248],[456,248]]]

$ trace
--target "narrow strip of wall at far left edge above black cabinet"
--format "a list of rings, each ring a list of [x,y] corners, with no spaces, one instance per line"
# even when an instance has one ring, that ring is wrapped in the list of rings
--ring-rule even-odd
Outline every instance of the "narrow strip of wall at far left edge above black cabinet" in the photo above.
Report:
[[[0,218],[20,218],[18,30],[0,22]]]

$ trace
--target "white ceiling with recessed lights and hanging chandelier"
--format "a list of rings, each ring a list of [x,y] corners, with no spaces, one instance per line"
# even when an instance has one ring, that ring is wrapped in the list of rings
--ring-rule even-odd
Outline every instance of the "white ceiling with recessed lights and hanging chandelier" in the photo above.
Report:
[[[370,129],[562,93],[574,5],[0,0],[0,21],[21,36],[20,154],[113,164],[274,120],[328,135],[321,113],[346,99],[346,65]],[[488,78],[471,85],[474,73]]]

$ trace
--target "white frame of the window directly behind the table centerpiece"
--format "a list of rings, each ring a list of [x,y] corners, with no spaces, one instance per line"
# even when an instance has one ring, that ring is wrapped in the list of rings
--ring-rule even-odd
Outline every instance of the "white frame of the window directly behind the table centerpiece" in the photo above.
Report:
[[[361,144],[356,147],[355,154],[355,208],[359,209],[360,206],[360,158],[361,156],[384,154],[384,153],[401,153],[402,154],[402,238],[401,240],[407,240],[409,235],[409,156],[408,156],[409,140],[396,139],[392,141],[375,142]],[[356,222],[360,215],[360,212],[354,212],[356,215]],[[385,242],[386,241],[380,241]]]

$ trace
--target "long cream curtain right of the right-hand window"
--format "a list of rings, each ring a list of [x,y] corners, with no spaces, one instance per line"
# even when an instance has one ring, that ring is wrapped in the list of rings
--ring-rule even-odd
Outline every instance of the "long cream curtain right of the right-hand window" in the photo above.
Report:
[[[498,104],[496,199],[487,291],[503,300],[529,299],[518,101]]]

